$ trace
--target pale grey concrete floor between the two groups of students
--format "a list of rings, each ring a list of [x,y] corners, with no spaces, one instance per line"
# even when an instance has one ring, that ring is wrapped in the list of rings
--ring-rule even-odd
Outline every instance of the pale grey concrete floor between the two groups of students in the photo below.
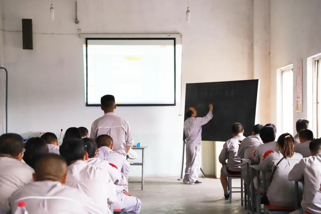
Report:
[[[130,181],[138,181],[131,178]],[[223,197],[219,179],[200,178],[201,185],[188,185],[177,178],[147,177],[144,190],[140,183],[130,183],[129,192],[142,201],[141,214],[214,214],[247,211],[241,207],[240,193],[234,193],[232,203]],[[240,180],[233,179],[233,187],[240,187]],[[238,190],[236,190],[238,191]]]

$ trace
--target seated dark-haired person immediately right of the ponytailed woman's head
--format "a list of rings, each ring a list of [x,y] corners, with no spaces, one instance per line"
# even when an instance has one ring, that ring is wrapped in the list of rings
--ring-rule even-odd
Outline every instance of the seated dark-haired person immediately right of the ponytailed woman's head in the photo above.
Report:
[[[311,156],[309,145],[313,140],[313,132],[309,129],[303,129],[299,133],[299,144],[294,145],[294,151],[300,153],[303,158]]]

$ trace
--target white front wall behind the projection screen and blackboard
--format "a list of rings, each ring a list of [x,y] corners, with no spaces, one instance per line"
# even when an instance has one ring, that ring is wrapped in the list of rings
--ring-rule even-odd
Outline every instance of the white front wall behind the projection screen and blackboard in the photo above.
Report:
[[[182,33],[183,103],[186,83],[251,79],[252,1],[199,0],[189,6],[191,23],[187,24],[183,0],[78,0],[80,24],[76,25],[74,1],[55,0],[51,21],[49,1],[4,0],[5,30],[21,30],[21,19],[30,18],[34,32],[33,50],[22,49],[21,32],[5,32],[9,131],[28,137],[70,126],[89,128],[102,115],[99,107],[84,105],[84,39],[76,34],[78,28],[82,33]],[[260,108],[268,110],[265,105]],[[117,108],[117,114],[131,124],[134,140],[149,146],[146,175],[179,175],[183,131],[179,110],[180,103]],[[132,172],[132,176],[140,173],[134,167]]]

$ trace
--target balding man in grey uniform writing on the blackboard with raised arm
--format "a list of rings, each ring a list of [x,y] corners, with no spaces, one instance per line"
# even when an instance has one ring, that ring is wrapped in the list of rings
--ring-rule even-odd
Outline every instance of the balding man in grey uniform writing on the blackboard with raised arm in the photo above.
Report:
[[[185,184],[202,184],[198,181],[201,168],[200,146],[202,141],[202,125],[207,124],[213,118],[213,105],[204,117],[196,117],[197,111],[189,107],[185,114],[188,117],[184,122],[184,133],[186,136],[186,169],[183,182]]]

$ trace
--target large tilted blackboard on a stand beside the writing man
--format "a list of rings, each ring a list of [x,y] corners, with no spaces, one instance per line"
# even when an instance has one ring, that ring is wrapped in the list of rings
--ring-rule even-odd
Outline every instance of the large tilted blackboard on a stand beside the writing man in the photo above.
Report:
[[[244,136],[252,135],[258,84],[259,80],[186,84],[185,109],[194,107],[197,116],[203,117],[213,104],[213,119],[202,127],[203,141],[227,141],[232,138],[233,123],[243,125]]]

